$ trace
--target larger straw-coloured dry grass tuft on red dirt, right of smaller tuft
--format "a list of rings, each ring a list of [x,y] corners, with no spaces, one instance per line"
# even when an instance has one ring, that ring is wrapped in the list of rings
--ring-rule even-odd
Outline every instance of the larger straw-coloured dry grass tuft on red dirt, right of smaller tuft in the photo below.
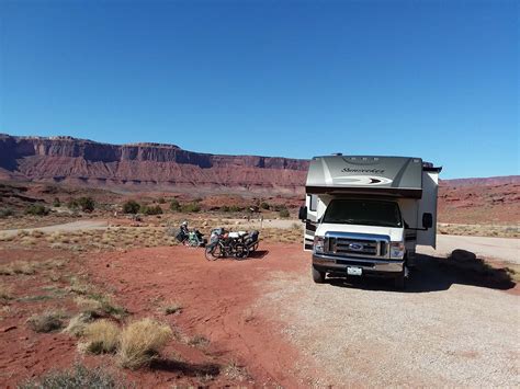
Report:
[[[122,367],[136,369],[148,365],[171,339],[169,325],[142,319],[123,329],[117,359]]]

